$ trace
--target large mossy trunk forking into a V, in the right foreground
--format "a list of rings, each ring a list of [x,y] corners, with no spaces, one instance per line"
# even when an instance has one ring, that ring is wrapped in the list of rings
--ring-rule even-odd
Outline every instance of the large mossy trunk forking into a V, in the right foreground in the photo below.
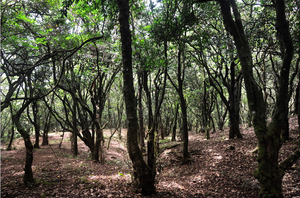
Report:
[[[282,35],[285,52],[280,72],[280,87],[276,101],[276,111],[269,124],[269,128],[266,126],[264,96],[253,76],[251,49],[235,0],[220,0],[219,3],[226,29],[233,35],[241,61],[249,110],[258,140],[259,151],[256,159],[258,169],[254,171],[253,175],[259,180],[261,185],[259,197],[283,198],[282,177],[284,172],[278,166],[278,154],[282,146],[280,136],[284,130],[284,122],[282,120],[286,119],[288,113],[288,79],[293,56],[293,43],[288,30],[289,25],[285,18],[284,1],[276,0],[276,30]],[[232,18],[230,5],[232,6],[235,20]]]

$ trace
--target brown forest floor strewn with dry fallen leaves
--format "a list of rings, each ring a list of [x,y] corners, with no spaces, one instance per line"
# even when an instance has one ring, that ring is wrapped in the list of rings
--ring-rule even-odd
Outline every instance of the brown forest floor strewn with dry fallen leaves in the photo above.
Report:
[[[297,118],[290,118],[291,140],[283,144],[280,161],[295,150],[297,128]],[[174,143],[170,142],[170,137],[161,140],[157,195],[151,196],[142,196],[131,186],[131,165],[127,162],[125,146],[126,130],[122,130],[121,140],[112,138],[110,149],[104,149],[105,161],[101,164],[89,160],[88,149],[81,140],[78,141],[79,155],[73,157],[69,134],[65,133],[59,148],[62,133],[50,133],[51,147],[46,145],[34,150],[32,168],[37,183],[29,186],[22,182],[25,149],[23,140],[18,139],[14,141],[15,149],[11,151],[5,151],[5,145],[1,144],[0,195],[1,198],[257,197],[259,183],[252,175],[257,168],[257,154],[252,153],[257,147],[257,140],[253,128],[241,128],[241,133],[243,139],[233,140],[226,139],[228,131],[211,133],[210,140],[204,140],[202,133],[190,133],[192,164],[183,164],[178,157],[181,155],[181,144],[172,149],[163,149]],[[109,134],[110,131],[106,130],[106,144]],[[282,187],[286,198],[300,198],[299,159],[286,171]]]

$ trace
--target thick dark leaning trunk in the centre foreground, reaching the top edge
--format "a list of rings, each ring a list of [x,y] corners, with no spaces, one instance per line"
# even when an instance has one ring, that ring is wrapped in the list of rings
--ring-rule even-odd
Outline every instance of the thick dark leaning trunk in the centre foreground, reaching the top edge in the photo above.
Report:
[[[132,74],[132,38],[129,29],[129,1],[117,0],[119,8],[122,65],[123,65],[123,94],[128,121],[127,128],[127,149],[132,160],[133,177],[138,189],[142,194],[155,192],[152,169],[144,162],[143,155],[137,141],[137,109],[135,105],[135,92]],[[150,102],[150,101],[149,101]]]

